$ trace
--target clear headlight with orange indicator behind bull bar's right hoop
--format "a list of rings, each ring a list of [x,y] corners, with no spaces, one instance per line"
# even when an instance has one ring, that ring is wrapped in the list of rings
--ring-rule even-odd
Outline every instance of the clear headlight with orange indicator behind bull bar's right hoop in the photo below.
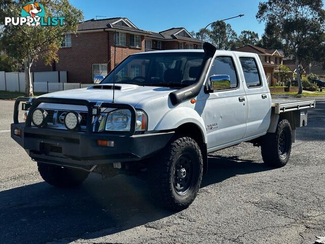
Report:
[[[137,110],[136,131],[147,129],[147,115]],[[117,109],[107,114],[106,131],[130,131],[131,111],[128,109]]]

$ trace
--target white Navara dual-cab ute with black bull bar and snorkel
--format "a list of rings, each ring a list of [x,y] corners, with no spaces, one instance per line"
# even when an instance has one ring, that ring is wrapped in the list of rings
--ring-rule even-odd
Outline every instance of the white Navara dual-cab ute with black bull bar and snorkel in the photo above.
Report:
[[[250,142],[267,165],[286,165],[315,101],[272,100],[257,54],[203,48],[133,54],[100,84],[19,98],[11,137],[53,186],[146,172],[154,199],[173,210],[197,196],[213,151]]]

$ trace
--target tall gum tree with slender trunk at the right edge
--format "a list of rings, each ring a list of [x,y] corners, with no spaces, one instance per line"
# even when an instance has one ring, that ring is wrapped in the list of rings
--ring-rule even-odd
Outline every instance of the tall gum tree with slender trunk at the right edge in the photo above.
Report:
[[[321,0],[268,0],[258,6],[256,18],[276,31],[285,53],[295,57],[298,94],[302,94],[301,67],[321,60],[325,11]],[[280,14],[281,13],[281,14]]]

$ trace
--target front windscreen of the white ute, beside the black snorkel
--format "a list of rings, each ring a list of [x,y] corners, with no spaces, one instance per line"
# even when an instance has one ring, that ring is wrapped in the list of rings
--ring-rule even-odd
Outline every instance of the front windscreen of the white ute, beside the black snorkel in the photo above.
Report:
[[[131,55],[116,67],[115,83],[185,87],[202,73],[203,52],[157,52]],[[101,84],[113,83],[111,72]]]

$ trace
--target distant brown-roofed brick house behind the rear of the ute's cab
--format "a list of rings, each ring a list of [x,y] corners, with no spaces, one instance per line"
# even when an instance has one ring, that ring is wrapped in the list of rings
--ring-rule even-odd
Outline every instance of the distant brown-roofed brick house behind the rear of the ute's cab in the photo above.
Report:
[[[264,49],[254,45],[247,45],[237,48],[235,51],[257,53],[262,61],[269,85],[276,85],[276,82],[280,80],[279,65],[283,64],[284,57],[282,50]]]

